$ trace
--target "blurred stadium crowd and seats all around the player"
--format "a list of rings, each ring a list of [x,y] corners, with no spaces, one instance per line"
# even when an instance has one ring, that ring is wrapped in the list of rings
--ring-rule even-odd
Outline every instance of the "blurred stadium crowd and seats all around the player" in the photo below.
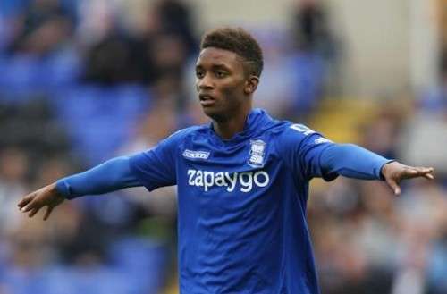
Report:
[[[65,202],[30,190],[207,122],[198,39],[239,25],[266,69],[255,97],[435,181],[312,182],[324,294],[447,293],[447,1],[0,1],[0,293],[176,293],[175,195],[128,189]],[[299,248],[298,248],[299,249]]]

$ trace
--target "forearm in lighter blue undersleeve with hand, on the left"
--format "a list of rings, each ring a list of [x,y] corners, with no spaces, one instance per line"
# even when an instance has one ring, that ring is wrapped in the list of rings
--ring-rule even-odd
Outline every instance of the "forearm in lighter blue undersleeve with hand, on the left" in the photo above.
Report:
[[[137,186],[141,184],[131,172],[129,157],[122,156],[99,164],[87,172],[74,174],[38,189],[23,197],[18,206],[22,212],[30,213],[30,217],[46,206],[46,220],[55,206],[65,199]]]

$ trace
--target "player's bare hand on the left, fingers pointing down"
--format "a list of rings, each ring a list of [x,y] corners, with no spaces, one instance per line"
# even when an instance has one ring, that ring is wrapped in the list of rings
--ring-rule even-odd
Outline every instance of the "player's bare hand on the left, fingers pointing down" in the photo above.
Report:
[[[30,213],[28,214],[30,217],[37,214],[40,208],[46,206],[44,215],[44,221],[46,221],[55,206],[63,203],[63,200],[65,200],[65,197],[57,191],[56,185],[53,183],[23,197],[17,206],[19,206],[21,212]]]

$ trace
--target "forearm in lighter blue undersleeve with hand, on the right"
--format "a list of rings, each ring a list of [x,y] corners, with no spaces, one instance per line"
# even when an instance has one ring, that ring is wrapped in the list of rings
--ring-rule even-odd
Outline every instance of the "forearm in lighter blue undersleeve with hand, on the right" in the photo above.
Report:
[[[434,179],[434,169],[431,167],[400,164],[353,144],[334,144],[327,147],[320,157],[320,164],[328,174],[336,173],[364,180],[384,180],[395,195],[401,193],[401,180],[417,177]]]

